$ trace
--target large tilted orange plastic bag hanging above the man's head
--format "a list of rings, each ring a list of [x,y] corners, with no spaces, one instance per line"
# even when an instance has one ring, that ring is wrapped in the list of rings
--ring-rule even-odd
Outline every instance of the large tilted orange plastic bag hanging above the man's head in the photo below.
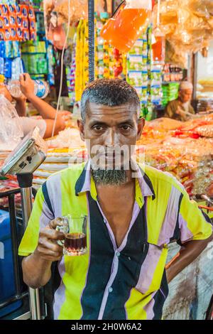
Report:
[[[127,53],[148,25],[151,17],[151,0],[126,0],[109,18],[101,36],[122,53]]]

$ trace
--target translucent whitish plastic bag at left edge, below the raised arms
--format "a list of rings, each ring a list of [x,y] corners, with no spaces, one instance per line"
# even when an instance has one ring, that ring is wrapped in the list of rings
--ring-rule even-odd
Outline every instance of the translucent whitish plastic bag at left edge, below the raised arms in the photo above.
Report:
[[[21,141],[23,131],[16,109],[4,95],[0,95],[0,124],[0,150],[11,151]]]

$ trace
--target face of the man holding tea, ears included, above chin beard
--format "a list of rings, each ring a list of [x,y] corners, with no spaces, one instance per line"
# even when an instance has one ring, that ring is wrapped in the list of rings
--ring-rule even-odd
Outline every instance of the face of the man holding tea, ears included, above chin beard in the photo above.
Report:
[[[94,164],[102,169],[113,169],[129,163],[144,125],[144,119],[138,120],[135,107],[89,103],[88,111],[85,122],[78,124]]]

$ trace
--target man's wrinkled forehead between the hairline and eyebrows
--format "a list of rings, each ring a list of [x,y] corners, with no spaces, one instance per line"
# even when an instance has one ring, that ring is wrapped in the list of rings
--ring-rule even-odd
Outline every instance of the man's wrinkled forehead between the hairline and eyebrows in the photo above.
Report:
[[[87,114],[89,117],[108,116],[108,115],[129,116],[130,114],[136,114],[136,113],[137,109],[135,106],[133,106],[133,104],[121,104],[119,106],[110,107],[103,104],[96,104],[94,102],[89,102],[87,107]]]

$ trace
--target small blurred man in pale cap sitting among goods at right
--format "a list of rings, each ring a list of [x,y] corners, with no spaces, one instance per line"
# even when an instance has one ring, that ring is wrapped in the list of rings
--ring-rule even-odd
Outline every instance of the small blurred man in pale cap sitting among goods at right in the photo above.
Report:
[[[191,82],[182,81],[179,87],[178,99],[168,102],[165,107],[165,117],[185,122],[195,114],[190,101],[192,99],[193,85]]]

